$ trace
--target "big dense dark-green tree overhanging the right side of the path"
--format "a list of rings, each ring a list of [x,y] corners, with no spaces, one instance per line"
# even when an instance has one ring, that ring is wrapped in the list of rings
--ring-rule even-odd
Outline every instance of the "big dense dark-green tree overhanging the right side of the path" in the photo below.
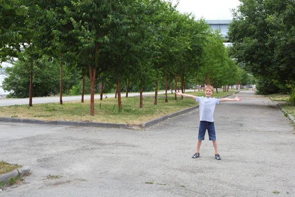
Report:
[[[281,91],[295,102],[295,1],[240,1],[228,33],[231,56],[259,80],[261,94]]]

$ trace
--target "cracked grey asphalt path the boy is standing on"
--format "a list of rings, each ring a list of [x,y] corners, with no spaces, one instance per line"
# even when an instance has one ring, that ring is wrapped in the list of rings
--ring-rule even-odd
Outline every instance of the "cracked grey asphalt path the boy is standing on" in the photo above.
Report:
[[[294,197],[291,121],[251,90],[237,95],[215,109],[221,161],[207,136],[191,158],[198,110],[147,130],[0,123],[0,160],[31,168],[0,197]]]

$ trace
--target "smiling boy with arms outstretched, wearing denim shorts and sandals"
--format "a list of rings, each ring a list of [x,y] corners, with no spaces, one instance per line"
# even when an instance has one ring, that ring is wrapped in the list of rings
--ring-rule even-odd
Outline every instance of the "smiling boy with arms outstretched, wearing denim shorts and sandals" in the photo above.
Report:
[[[215,159],[221,160],[220,155],[218,154],[217,150],[217,142],[215,137],[215,127],[214,127],[214,119],[213,119],[213,113],[215,109],[215,105],[219,104],[220,102],[225,101],[242,101],[241,97],[236,97],[235,99],[216,99],[211,98],[211,95],[213,94],[213,87],[210,85],[206,85],[204,88],[204,92],[206,97],[196,97],[193,95],[185,95],[181,92],[175,92],[177,95],[195,99],[196,102],[199,102],[199,111],[200,111],[200,126],[199,126],[199,136],[198,136],[198,143],[197,143],[197,151],[193,155],[193,158],[200,157],[200,147],[202,144],[202,140],[205,139],[205,132],[208,131],[209,140],[213,142],[213,146],[215,149]]]

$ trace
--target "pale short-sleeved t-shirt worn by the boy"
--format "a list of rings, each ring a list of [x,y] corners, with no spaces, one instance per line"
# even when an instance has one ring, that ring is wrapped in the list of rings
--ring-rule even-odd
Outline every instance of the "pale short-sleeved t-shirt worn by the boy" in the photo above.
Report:
[[[200,121],[214,122],[215,105],[220,103],[220,99],[196,97],[196,102],[199,102]]]

